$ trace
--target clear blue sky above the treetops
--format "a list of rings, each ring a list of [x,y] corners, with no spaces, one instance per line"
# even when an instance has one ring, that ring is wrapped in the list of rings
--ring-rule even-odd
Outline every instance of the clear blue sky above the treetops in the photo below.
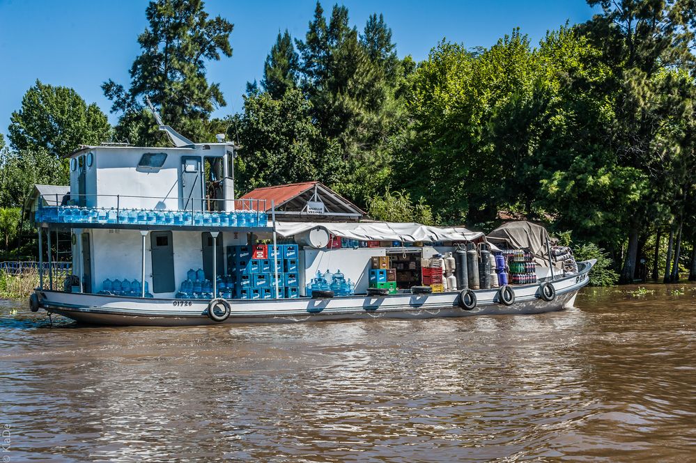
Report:
[[[125,84],[139,54],[136,38],[147,26],[147,1],[0,0],[0,133],[10,114],[36,79],[69,86],[109,114],[100,85],[107,79]],[[333,2],[322,3],[330,10]],[[362,30],[371,13],[383,13],[392,28],[399,56],[417,61],[438,40],[489,47],[519,26],[536,44],[548,29],[566,20],[584,22],[592,10],[584,0],[344,1],[350,22]],[[234,24],[233,55],[208,63],[208,79],[219,82],[227,106],[216,116],[240,111],[247,81],[260,80],[263,61],[279,30],[304,38],[314,0],[206,1],[211,16]]]

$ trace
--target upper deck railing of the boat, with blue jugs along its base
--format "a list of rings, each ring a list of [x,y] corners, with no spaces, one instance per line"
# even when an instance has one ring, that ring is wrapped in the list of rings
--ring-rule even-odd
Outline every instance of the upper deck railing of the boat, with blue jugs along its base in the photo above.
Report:
[[[109,198],[115,207],[86,205]],[[150,207],[135,207],[132,200],[149,203]],[[142,201],[146,200],[146,201]],[[171,207],[176,203],[177,207]],[[70,194],[46,198],[42,196],[35,212],[37,223],[96,223],[147,226],[211,226],[267,227],[268,209],[265,199],[187,198],[185,208],[178,207],[178,198],[121,194]],[[125,205],[125,207],[124,207]]]

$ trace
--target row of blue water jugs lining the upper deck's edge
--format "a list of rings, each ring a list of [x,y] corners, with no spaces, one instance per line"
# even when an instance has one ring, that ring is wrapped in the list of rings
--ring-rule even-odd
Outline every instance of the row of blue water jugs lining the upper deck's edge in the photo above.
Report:
[[[152,209],[105,209],[103,207],[50,206],[36,210],[36,222],[97,223],[148,226],[266,227],[268,215],[261,211],[182,211]]]

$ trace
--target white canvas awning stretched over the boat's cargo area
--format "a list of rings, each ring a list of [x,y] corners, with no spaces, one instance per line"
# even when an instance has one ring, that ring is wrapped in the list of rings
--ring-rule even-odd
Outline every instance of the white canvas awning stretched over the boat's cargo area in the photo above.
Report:
[[[298,235],[313,228],[324,228],[332,235],[360,241],[473,241],[483,237],[463,227],[434,227],[421,223],[395,222],[277,222],[276,231],[282,237]]]

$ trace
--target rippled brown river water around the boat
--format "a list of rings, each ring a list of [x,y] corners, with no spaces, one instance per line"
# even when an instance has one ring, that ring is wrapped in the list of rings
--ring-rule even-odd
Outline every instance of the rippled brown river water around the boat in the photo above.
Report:
[[[51,327],[0,301],[0,457],[696,461],[696,285],[647,288],[544,315],[192,328]]]

